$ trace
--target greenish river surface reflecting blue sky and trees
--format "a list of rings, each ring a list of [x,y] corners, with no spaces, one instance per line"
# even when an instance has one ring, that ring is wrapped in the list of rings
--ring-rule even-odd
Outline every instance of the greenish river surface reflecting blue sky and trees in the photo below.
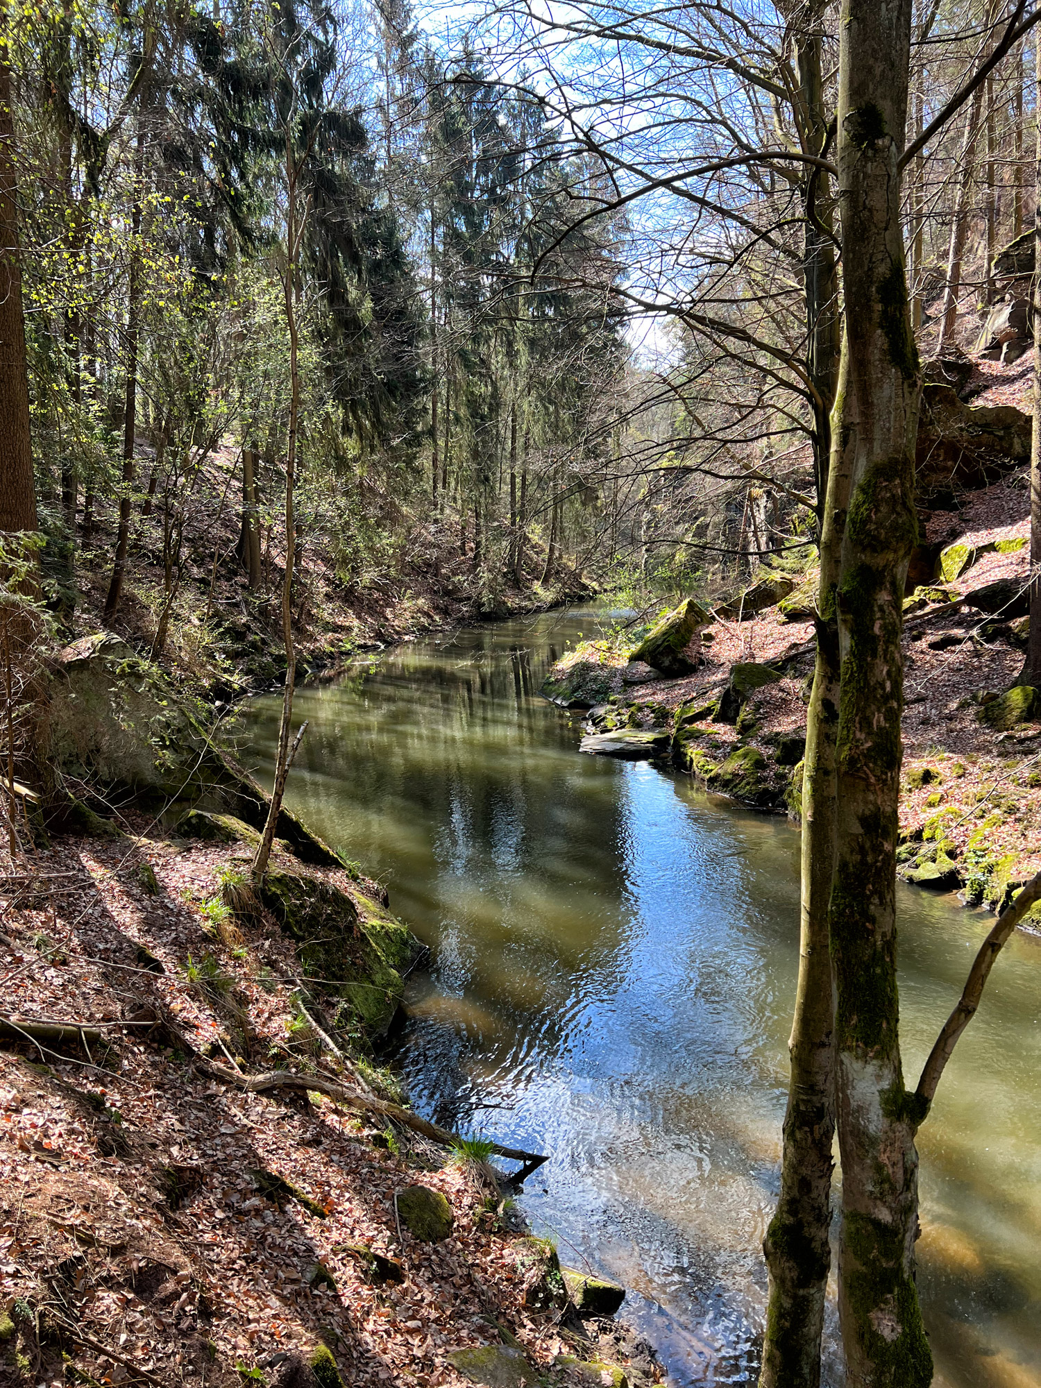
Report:
[[[433,949],[397,1048],[416,1106],[552,1153],[530,1220],[632,1288],[672,1381],[754,1381],[798,836],[576,755],[577,719],[537,688],[595,620],[471,629],[300,691],[289,798]],[[261,775],[279,704],[251,712]],[[899,905],[916,1076],[990,922],[912,888]],[[949,1388],[1041,1388],[1038,963],[1041,941],[1010,944],[922,1133],[919,1283]]]

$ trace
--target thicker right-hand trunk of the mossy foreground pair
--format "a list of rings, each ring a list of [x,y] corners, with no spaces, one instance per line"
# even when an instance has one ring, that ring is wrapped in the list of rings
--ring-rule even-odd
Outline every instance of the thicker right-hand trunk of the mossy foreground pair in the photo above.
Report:
[[[838,1310],[851,1388],[933,1376],[915,1288],[917,1102],[904,1087],[895,851],[904,580],[916,540],[919,361],[908,312],[898,160],[912,0],[844,0],[838,185],[844,350],[833,466],[851,500],[837,590],[841,700],[830,937],[843,1163]]]

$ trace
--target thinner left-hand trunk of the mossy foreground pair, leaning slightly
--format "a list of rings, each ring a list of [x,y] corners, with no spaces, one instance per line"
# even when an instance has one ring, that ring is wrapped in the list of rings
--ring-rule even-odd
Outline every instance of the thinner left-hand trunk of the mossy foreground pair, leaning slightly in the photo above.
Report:
[[[805,151],[827,146],[823,104],[822,10],[799,11],[795,40],[799,78],[798,125]],[[808,372],[813,383],[813,458],[820,526],[820,591],[816,666],[806,713],[802,772],[802,887],[799,973],[788,1053],[784,1148],[777,1210],[763,1241],[770,1291],[761,1388],[818,1388],[820,1337],[830,1267],[831,1144],[834,1137],[834,1002],[827,904],[836,845],[836,729],[838,725],[838,577],[848,473],[830,469],[830,411],[838,373],[838,276],[827,187],[815,172],[805,189],[805,289]],[[826,502],[827,496],[827,502]]]

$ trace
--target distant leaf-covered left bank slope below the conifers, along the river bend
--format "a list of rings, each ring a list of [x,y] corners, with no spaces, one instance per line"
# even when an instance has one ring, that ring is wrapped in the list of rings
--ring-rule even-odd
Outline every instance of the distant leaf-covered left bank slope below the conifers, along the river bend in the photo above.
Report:
[[[169,526],[151,508],[142,512],[119,608],[107,619],[117,516],[94,515],[90,536],[75,550],[72,572],[51,565],[49,575],[65,641],[104,627],[207,700],[235,702],[282,683],[285,547],[272,526],[251,589],[237,552],[239,515],[226,504],[225,479],[235,464],[228,447],[207,458],[197,486],[208,487],[211,507],[183,516],[175,558]],[[459,548],[458,534],[437,515],[416,525],[400,552],[364,561],[335,552],[322,533],[301,537],[291,600],[297,677],[333,679],[359,655],[396,641],[590,595],[583,576],[559,555],[544,575],[545,558],[544,547],[529,536],[523,564],[490,584],[473,551]]]

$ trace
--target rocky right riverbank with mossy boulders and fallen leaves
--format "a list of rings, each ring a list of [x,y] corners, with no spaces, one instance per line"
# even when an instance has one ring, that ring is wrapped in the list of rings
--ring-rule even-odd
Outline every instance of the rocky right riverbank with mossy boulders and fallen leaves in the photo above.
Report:
[[[1041,695],[1017,684],[1027,530],[1020,473],[966,494],[955,514],[930,514],[919,561],[931,552],[931,569],[905,601],[899,874],[995,912],[1041,867]],[[706,612],[683,641],[688,673],[630,661],[641,629],[620,629],[568,652],[544,693],[586,711],[583,751],[661,759],[713,794],[798,820],[815,582],[812,570],[766,570],[743,600]],[[1037,908],[1027,924],[1041,924]]]

